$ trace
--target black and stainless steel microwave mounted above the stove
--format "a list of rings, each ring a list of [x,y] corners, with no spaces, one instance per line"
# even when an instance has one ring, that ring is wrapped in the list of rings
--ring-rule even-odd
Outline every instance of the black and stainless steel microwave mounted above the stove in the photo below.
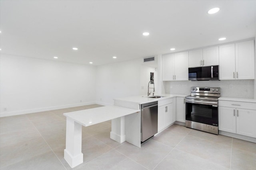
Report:
[[[188,80],[219,80],[219,66],[190,67]]]

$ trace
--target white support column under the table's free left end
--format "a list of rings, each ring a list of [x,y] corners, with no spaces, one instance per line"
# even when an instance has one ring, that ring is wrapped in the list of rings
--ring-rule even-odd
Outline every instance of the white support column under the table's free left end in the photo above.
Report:
[[[66,149],[64,149],[64,159],[71,168],[74,168],[83,163],[82,125],[76,123],[69,117],[66,119]]]

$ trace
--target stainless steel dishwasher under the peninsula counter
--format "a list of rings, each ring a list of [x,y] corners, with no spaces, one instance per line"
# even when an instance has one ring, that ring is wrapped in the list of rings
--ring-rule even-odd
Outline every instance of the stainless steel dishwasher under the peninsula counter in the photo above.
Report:
[[[144,142],[157,133],[158,102],[141,105],[141,141]]]

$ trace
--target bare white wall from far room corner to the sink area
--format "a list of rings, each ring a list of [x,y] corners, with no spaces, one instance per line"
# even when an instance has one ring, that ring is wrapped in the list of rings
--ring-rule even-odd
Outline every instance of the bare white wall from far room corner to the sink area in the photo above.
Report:
[[[114,98],[140,94],[141,59],[97,66],[96,91],[99,104],[114,104]]]

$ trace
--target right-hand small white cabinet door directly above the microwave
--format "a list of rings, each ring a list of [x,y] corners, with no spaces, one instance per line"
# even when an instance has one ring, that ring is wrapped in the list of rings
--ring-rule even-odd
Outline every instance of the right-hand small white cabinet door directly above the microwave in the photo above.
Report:
[[[203,66],[219,65],[219,47],[203,49]]]

